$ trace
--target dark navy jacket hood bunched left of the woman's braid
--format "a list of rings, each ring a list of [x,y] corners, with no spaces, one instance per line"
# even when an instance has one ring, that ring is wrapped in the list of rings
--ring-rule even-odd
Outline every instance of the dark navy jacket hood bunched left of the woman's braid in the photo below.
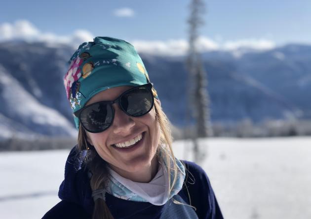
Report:
[[[88,170],[83,164],[86,150],[79,152],[75,146],[66,161],[65,179],[59,187],[58,197],[61,200],[73,202],[92,214],[94,201],[92,199],[92,189],[88,179]]]

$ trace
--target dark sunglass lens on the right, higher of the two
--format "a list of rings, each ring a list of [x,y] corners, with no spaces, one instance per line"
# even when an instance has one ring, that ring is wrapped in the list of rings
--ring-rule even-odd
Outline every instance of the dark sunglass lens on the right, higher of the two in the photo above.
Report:
[[[142,116],[151,110],[153,101],[153,96],[149,89],[137,88],[122,95],[120,105],[127,114]]]

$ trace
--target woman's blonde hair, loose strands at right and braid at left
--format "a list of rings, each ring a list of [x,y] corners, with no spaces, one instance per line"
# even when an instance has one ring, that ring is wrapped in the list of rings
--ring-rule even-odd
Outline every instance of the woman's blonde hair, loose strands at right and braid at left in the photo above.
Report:
[[[172,182],[169,185],[169,192],[171,192],[177,180],[178,167],[172,149],[172,135],[170,125],[165,113],[157,101],[155,101],[154,110],[156,112],[156,121],[160,127],[160,139],[159,146],[157,148],[157,154],[161,153],[167,164],[168,180],[169,182]],[[81,151],[87,149],[87,147],[92,147],[90,146],[89,142],[90,141],[86,131],[83,127],[81,127],[81,125],[79,125],[78,150]],[[106,161],[103,160],[95,150],[88,150],[88,156],[86,157],[85,162],[86,166],[92,172],[92,177],[90,179],[92,191],[105,188],[108,179]],[[171,176],[173,176],[172,181]],[[95,201],[92,219],[114,219],[106,202],[102,198],[98,198]]]

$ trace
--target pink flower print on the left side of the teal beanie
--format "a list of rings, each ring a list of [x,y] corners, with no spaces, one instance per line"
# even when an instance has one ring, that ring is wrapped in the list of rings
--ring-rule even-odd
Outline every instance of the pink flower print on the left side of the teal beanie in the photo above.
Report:
[[[81,72],[80,72],[80,64],[83,62],[82,59],[80,59],[79,57],[77,57],[76,59],[74,59],[69,66],[69,70],[65,75],[64,78],[64,84],[66,87],[66,92],[67,92],[67,98],[70,98],[70,90],[71,87],[73,86],[73,83],[75,81],[78,81],[79,78],[81,77]]]

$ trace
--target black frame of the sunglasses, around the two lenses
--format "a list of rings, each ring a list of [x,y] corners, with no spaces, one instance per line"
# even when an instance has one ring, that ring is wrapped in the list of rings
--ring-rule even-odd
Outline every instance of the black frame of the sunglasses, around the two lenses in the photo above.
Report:
[[[133,115],[128,114],[128,113],[123,109],[122,105],[120,104],[120,98],[121,98],[124,94],[126,94],[126,93],[128,93],[128,92],[131,92],[131,91],[133,91],[133,90],[140,89],[140,88],[146,88],[146,89],[150,92],[150,94],[151,94],[151,96],[152,96],[152,104],[151,104],[150,109],[149,109],[146,113],[144,113],[144,114],[142,114],[142,115],[139,115],[139,116],[133,116]],[[98,104],[98,103],[107,103],[107,104],[111,107],[111,109],[112,109],[112,114],[113,114],[113,115],[112,115],[112,121],[111,121],[110,125],[109,125],[107,128],[105,128],[105,129],[103,129],[103,130],[101,130],[101,131],[92,131],[92,130],[87,129],[87,128],[83,125],[83,123],[81,122],[80,116],[81,116],[81,113],[82,113],[83,110],[87,109],[87,108],[90,107],[90,106],[93,106],[93,105],[95,105],[95,104]],[[121,109],[126,115],[128,115],[128,116],[130,116],[130,117],[140,117],[140,116],[144,116],[144,115],[146,115],[147,113],[149,113],[149,112],[152,110],[152,108],[154,107],[154,104],[155,104],[155,98],[154,98],[154,94],[153,94],[153,92],[152,92],[152,84],[151,84],[151,83],[148,83],[148,84],[144,84],[144,85],[140,85],[140,86],[133,87],[133,88],[131,88],[131,89],[129,89],[129,90],[126,90],[126,91],[123,92],[122,94],[120,94],[120,95],[119,95],[116,99],[114,99],[114,100],[98,101],[98,102],[89,104],[89,105],[84,106],[83,108],[79,109],[78,111],[74,112],[74,114],[75,114],[76,117],[78,117],[80,124],[83,126],[83,128],[84,128],[85,130],[87,130],[88,132],[91,132],[91,133],[100,133],[100,132],[103,132],[103,131],[107,130],[107,129],[113,124],[113,122],[114,122],[114,119],[115,119],[115,110],[114,110],[114,107],[113,107],[113,104],[114,104],[114,103],[117,103],[117,104],[119,105],[120,109]]]

